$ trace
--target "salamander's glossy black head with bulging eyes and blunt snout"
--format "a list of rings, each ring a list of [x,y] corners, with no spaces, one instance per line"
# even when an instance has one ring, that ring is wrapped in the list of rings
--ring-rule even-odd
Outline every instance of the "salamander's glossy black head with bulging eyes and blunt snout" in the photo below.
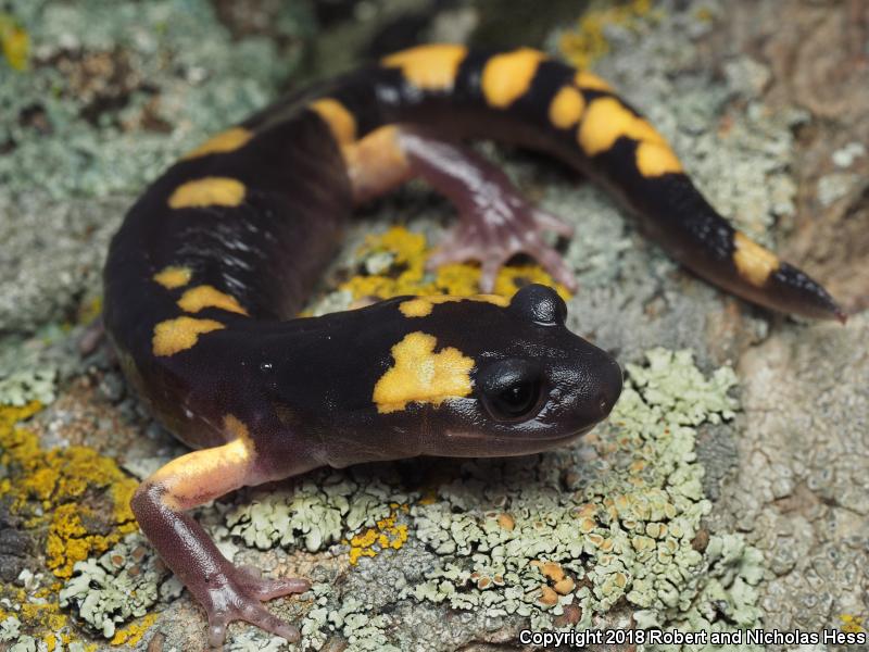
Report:
[[[425,346],[430,358],[411,361],[421,349],[412,352],[408,347],[407,368],[429,365],[442,392],[427,405],[420,452],[534,453],[583,435],[606,418],[621,392],[621,369],[608,353],[569,331],[566,314],[555,291],[531,285],[506,306],[444,302],[420,319],[427,323],[414,333],[430,338]],[[404,353],[393,349],[393,369],[402,366]],[[387,376],[385,385],[394,380],[399,389],[398,383],[412,376]]]

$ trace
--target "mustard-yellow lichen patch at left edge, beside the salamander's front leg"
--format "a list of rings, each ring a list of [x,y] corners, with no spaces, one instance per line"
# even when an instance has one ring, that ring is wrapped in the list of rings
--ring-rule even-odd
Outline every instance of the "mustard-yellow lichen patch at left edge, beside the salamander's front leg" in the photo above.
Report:
[[[129,507],[136,481],[88,447],[40,447],[34,432],[15,425],[40,408],[38,402],[0,408],[0,464],[10,469],[0,481],[0,497],[9,499],[28,529],[47,528],[46,565],[64,578],[76,562],[104,552],[136,529]]]

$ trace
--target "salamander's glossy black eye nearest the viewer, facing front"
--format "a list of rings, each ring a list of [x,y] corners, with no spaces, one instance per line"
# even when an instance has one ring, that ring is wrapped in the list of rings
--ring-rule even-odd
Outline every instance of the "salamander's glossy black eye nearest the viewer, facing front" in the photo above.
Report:
[[[480,400],[496,421],[530,418],[543,396],[541,373],[529,360],[502,360],[487,365],[477,376]]]

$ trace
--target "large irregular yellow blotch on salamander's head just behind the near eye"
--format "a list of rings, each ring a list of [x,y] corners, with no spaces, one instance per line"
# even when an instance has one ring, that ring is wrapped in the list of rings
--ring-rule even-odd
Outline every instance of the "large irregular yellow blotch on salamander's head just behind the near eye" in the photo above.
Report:
[[[395,364],[374,387],[371,400],[381,414],[404,410],[407,403],[440,405],[471,391],[474,360],[448,347],[434,353],[438,340],[425,333],[411,333],[392,347]]]

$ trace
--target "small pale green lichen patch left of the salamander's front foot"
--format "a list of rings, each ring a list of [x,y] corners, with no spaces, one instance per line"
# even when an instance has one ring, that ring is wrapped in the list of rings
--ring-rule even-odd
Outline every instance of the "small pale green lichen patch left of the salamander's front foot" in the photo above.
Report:
[[[77,562],[59,598],[61,606],[74,609],[91,629],[112,639],[119,625],[180,592],[180,582],[167,578],[153,549],[136,532],[100,557]]]

